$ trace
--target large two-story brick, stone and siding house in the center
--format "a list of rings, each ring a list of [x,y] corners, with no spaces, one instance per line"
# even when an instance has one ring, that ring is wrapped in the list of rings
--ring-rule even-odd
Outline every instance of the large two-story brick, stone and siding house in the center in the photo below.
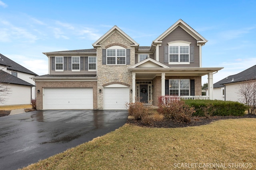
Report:
[[[157,106],[165,95],[200,98],[201,76],[212,86],[213,72],[222,69],[202,67],[206,42],[178,20],[148,47],[114,26],[92,49],[43,53],[49,73],[33,78],[37,109],[126,109],[135,100]]]

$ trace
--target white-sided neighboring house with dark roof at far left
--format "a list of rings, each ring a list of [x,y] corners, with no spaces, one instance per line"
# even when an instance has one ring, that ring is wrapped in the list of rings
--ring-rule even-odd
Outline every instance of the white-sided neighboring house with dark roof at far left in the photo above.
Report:
[[[31,104],[36,99],[35,82],[30,78],[34,76],[37,74],[0,54],[0,86],[8,88],[0,106]]]

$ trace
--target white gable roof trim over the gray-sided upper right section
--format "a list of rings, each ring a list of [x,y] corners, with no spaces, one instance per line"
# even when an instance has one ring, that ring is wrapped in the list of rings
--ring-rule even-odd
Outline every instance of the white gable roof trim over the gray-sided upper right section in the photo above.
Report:
[[[198,44],[204,45],[207,42],[207,40],[202,35],[200,35],[192,27],[190,27],[187,23],[185,23],[180,19],[176,23],[174,23],[170,28],[164,31],[164,33],[162,33],[159,37],[157,37],[153,41],[153,43],[161,43],[162,40],[167,35],[169,35],[174,29],[176,29],[178,26],[182,27],[182,29],[184,29],[187,33],[189,33],[192,37],[194,37],[197,40]]]

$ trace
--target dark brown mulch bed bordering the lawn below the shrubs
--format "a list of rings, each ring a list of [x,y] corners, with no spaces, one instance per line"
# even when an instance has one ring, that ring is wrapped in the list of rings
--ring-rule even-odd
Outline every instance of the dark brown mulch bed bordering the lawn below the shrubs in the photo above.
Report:
[[[206,117],[192,117],[189,123],[177,122],[174,120],[164,120],[164,121],[154,121],[151,125],[145,125],[142,121],[137,121],[135,119],[128,119],[127,123],[137,125],[140,127],[153,127],[153,128],[176,128],[176,127],[189,127],[189,126],[200,126],[207,125],[213,121],[222,119],[241,119],[241,118],[256,118],[256,115],[244,115],[244,116],[211,116]]]

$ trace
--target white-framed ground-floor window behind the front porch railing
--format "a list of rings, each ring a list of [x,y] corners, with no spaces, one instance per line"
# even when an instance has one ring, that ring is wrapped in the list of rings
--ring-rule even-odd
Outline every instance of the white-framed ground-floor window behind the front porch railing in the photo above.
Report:
[[[189,96],[189,79],[170,79],[169,95]]]

